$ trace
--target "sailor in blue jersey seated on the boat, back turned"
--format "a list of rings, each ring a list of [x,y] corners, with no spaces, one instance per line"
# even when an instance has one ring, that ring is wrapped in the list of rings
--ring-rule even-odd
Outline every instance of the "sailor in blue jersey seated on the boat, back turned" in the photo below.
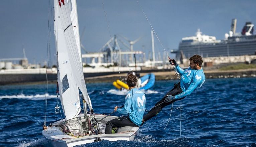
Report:
[[[142,123],[143,114],[146,109],[145,94],[135,88],[137,84],[137,77],[135,75],[129,74],[127,76],[126,83],[129,86],[130,91],[125,97],[124,106],[121,108],[116,106],[114,111],[129,115],[108,121],[106,124],[105,134],[112,133],[112,128],[114,127],[138,127]]]

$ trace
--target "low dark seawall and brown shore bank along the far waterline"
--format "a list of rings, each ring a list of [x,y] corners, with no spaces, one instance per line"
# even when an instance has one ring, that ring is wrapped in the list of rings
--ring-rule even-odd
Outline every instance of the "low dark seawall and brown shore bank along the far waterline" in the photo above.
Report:
[[[160,72],[157,72],[160,71]],[[164,70],[146,70],[140,71],[140,76],[146,75],[147,73],[154,73],[156,80],[169,80],[177,79],[174,71]],[[256,69],[246,70],[206,70],[206,78],[241,78],[241,77],[256,77]],[[86,83],[96,82],[113,82],[117,79],[126,78],[127,72],[104,72],[104,73],[84,73]],[[0,85],[6,84],[24,84],[24,83],[45,83],[46,74],[0,74]],[[49,74],[49,82],[56,82],[57,74]]]

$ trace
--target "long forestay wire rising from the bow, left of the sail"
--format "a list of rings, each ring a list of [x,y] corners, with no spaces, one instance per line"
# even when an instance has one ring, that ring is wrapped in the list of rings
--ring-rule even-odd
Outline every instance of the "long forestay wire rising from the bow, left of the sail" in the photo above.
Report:
[[[51,1],[51,5],[52,5]],[[47,97],[48,97],[48,80],[49,80],[49,62],[50,62],[50,39],[51,39],[51,19],[52,9],[50,9],[50,0],[49,0],[49,8],[48,8],[48,33],[47,33],[47,64],[46,64],[46,80],[45,80],[45,114],[44,114],[44,125],[46,124],[46,110],[47,110]]]

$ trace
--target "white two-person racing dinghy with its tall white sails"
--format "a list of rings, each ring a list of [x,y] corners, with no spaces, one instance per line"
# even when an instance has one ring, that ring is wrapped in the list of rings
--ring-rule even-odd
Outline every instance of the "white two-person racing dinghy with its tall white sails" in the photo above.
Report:
[[[57,92],[65,118],[48,126],[45,121],[42,134],[53,146],[58,147],[71,147],[102,139],[133,140],[139,127],[121,127],[112,134],[105,134],[107,121],[118,117],[94,114],[83,76],[76,9],[76,0],[54,0]],[[82,93],[81,97],[79,91]],[[84,113],[81,112],[81,99]],[[60,108],[55,108],[57,113]]]

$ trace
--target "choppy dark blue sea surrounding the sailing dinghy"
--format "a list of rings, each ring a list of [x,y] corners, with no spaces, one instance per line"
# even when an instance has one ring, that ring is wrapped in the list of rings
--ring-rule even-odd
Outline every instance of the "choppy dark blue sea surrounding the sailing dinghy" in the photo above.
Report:
[[[156,81],[145,92],[146,108],[152,108],[177,82]],[[255,89],[256,78],[206,79],[200,89],[173,104],[171,117],[169,105],[140,127],[134,141],[103,140],[78,147],[255,147]],[[56,84],[48,85],[46,125],[61,118],[54,112],[55,90]],[[124,103],[124,92],[116,91],[112,83],[87,84],[87,90],[95,113],[107,115]],[[41,133],[45,93],[45,85],[0,86],[0,146],[49,146]]]

